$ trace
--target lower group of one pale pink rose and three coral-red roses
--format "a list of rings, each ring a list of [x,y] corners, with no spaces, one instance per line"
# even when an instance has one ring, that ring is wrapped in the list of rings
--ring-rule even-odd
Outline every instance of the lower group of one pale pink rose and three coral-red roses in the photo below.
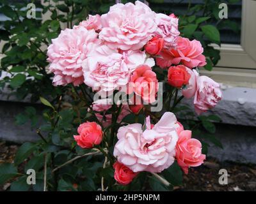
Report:
[[[92,148],[102,141],[102,129],[95,122],[84,122],[74,138],[82,148]],[[117,161],[115,179],[122,185],[129,184],[141,171],[159,173],[173,164],[175,159],[184,173],[190,166],[200,166],[205,160],[202,145],[191,138],[191,131],[184,130],[175,115],[166,112],[156,124],[148,116],[144,126],[129,124],[118,129],[118,142],[114,156]]]

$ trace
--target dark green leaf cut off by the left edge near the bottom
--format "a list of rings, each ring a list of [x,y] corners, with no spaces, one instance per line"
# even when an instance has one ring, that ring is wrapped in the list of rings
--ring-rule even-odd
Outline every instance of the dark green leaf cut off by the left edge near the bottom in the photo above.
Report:
[[[15,177],[17,175],[17,168],[14,166],[14,164],[11,163],[4,163],[0,165],[0,185],[4,184],[9,179],[12,179],[12,177]]]

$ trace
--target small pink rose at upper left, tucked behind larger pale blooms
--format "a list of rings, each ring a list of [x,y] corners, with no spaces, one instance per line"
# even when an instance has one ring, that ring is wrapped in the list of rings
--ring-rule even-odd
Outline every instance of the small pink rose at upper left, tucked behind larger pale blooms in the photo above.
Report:
[[[79,23],[78,26],[74,26],[75,28],[77,27],[85,27],[87,30],[94,29],[95,31],[100,31],[102,29],[101,21],[100,21],[100,15],[89,15],[87,20],[83,20],[82,22]]]

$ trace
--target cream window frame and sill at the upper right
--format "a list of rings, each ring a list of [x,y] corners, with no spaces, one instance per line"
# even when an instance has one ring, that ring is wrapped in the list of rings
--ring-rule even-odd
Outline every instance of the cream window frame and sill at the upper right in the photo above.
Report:
[[[218,82],[256,87],[256,1],[242,1],[241,45],[212,45],[220,50],[221,59],[209,75]],[[228,83],[229,82],[229,83]]]

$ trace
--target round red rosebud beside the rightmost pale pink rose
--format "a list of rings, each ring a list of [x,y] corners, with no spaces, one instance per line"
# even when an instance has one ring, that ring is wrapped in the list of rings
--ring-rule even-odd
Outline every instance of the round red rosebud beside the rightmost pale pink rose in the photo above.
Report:
[[[171,66],[168,69],[168,83],[173,87],[181,88],[182,85],[186,85],[189,82],[188,68],[183,65]]]

